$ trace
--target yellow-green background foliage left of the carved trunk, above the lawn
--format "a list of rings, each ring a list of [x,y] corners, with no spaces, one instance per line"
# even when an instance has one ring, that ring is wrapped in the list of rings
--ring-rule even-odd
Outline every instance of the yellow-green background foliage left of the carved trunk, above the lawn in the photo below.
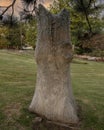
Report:
[[[0,49],[21,49],[25,45],[35,48],[36,35],[35,19],[27,23],[18,22],[13,26],[5,21],[5,25],[0,28]]]

